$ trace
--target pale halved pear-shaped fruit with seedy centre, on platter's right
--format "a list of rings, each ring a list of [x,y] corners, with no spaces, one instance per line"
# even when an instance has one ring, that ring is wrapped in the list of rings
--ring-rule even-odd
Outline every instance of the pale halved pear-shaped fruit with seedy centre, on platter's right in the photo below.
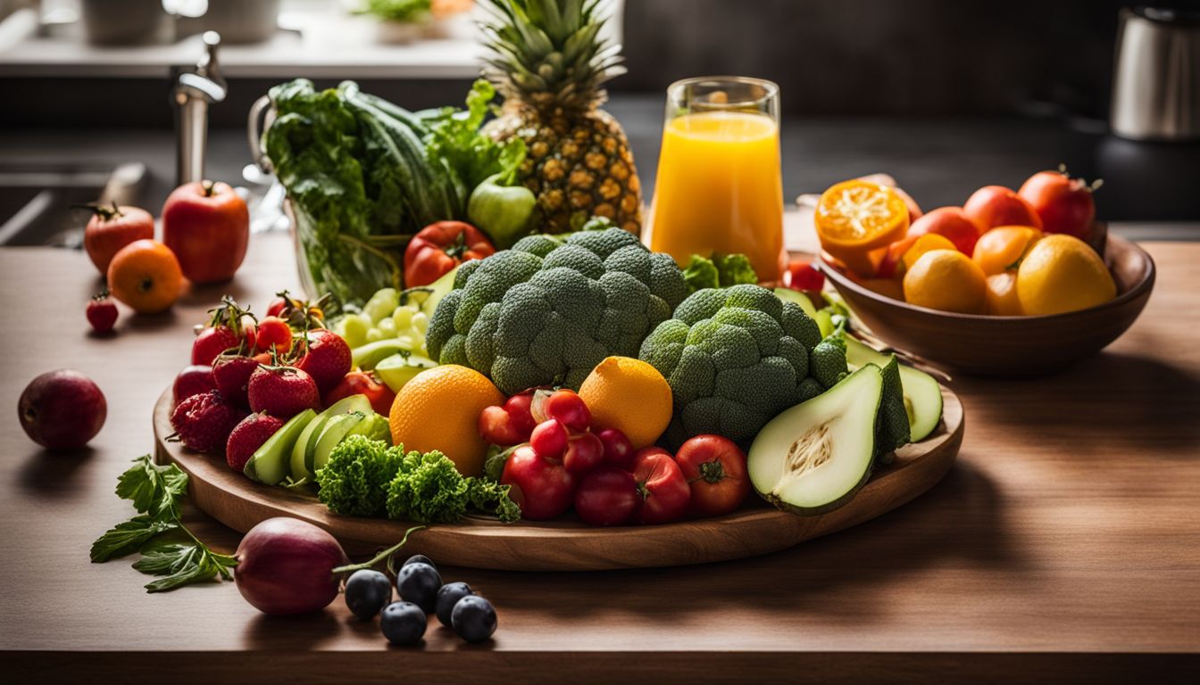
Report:
[[[746,457],[764,499],[814,516],[850,501],[871,477],[883,373],[866,365],[767,423]]]

